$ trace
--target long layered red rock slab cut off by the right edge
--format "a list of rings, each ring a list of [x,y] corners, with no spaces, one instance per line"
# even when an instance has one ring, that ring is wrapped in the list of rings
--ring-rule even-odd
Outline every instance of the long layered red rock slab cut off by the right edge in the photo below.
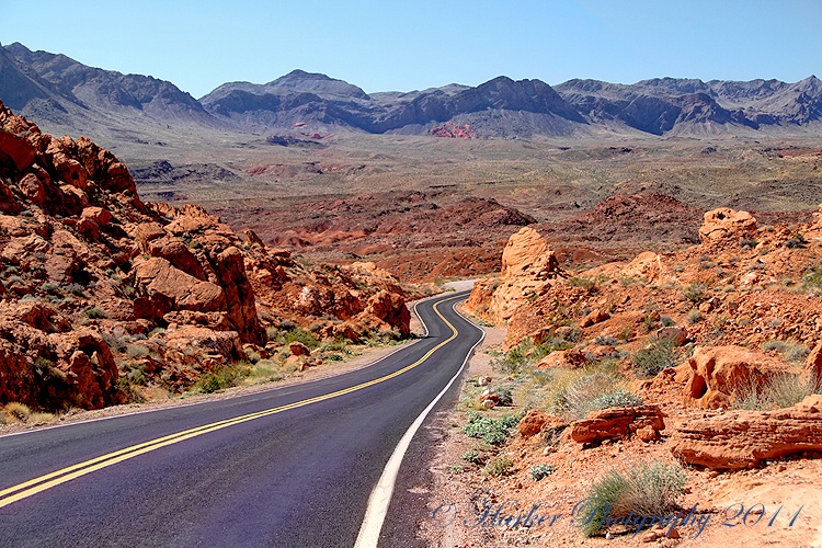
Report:
[[[684,463],[717,470],[753,468],[796,454],[822,452],[822,396],[778,411],[733,411],[690,420],[673,434]]]

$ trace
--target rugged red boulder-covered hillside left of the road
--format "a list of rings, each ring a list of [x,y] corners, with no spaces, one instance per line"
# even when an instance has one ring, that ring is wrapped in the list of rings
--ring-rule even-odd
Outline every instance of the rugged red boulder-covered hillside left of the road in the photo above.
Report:
[[[187,204],[144,204],[128,170],[0,103],[0,404],[100,408],[132,380],[182,390],[266,354],[265,324],[408,334],[384,273],[311,267]],[[340,330],[341,322],[349,322]]]

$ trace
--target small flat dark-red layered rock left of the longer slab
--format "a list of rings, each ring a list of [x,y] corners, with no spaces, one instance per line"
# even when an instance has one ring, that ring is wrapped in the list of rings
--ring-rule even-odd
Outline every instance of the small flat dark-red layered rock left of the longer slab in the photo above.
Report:
[[[650,441],[659,438],[659,432],[665,429],[663,416],[659,406],[603,409],[591,412],[587,419],[572,422],[570,436],[581,444],[621,439],[635,433]]]

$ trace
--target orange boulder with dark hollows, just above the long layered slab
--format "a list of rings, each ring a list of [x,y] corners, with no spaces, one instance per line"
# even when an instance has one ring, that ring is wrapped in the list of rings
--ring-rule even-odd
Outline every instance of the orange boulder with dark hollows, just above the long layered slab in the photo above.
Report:
[[[762,386],[775,375],[796,373],[784,363],[743,346],[697,347],[688,366],[685,403],[706,409],[728,409],[751,386]]]

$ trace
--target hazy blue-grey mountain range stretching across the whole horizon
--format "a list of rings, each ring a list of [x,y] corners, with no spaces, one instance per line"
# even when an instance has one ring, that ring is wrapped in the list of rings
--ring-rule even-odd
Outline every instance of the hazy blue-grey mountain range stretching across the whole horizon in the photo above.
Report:
[[[89,133],[124,118],[156,127],[255,134],[424,135],[443,124],[480,138],[810,136],[822,134],[822,81],[659,78],[633,84],[501,76],[477,87],[366,93],[295,70],[269,83],[228,82],[194,99],[171,82],[85,66],[61,54],[0,47],[0,98],[47,127]]]

